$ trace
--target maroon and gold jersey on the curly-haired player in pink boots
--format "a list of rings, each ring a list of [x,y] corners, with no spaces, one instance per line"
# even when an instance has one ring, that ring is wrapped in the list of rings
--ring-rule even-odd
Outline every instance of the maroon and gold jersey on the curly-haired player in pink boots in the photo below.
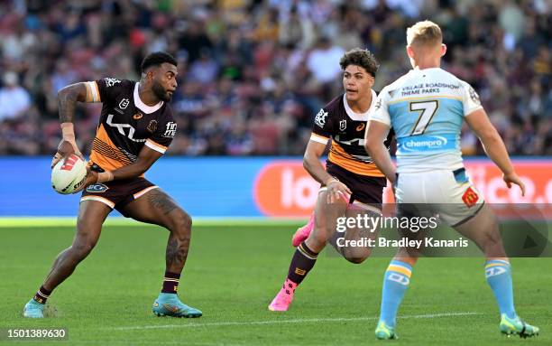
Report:
[[[346,102],[345,94],[334,98],[315,117],[311,141],[327,144],[331,138],[327,165],[336,164],[345,170],[373,177],[383,173],[364,149],[364,132],[377,95],[372,90],[372,105],[363,114],[354,113]]]

